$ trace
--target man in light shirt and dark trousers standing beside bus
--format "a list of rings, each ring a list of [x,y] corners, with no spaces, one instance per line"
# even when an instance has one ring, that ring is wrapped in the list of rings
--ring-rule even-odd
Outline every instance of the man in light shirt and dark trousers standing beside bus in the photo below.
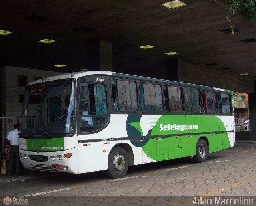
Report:
[[[20,157],[19,157],[19,129],[20,124],[14,125],[14,130],[7,135],[7,144],[10,145],[10,160],[7,169],[7,175],[12,174],[12,168],[15,162],[15,175],[20,175]]]

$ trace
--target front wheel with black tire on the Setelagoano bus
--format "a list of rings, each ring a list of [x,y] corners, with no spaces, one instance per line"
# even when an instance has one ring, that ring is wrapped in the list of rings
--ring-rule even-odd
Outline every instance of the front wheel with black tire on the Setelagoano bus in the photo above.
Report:
[[[129,159],[126,150],[122,147],[115,147],[108,155],[108,170],[106,175],[109,178],[122,178],[126,175],[129,167]]]

